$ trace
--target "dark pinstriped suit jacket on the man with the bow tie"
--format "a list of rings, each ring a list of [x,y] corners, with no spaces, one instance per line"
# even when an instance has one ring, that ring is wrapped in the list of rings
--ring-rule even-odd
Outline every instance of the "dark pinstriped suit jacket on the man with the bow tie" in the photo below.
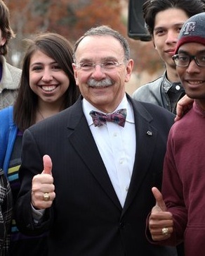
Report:
[[[166,140],[174,116],[159,106],[128,100],[135,115],[136,154],[123,209],[88,127],[81,98],[25,131],[15,216],[24,233],[50,231],[49,255],[175,255],[171,248],[152,245],[145,237],[146,217],[155,205],[151,188],[161,187]],[[44,154],[53,161],[56,198],[44,221],[34,225],[32,177],[43,170]]]

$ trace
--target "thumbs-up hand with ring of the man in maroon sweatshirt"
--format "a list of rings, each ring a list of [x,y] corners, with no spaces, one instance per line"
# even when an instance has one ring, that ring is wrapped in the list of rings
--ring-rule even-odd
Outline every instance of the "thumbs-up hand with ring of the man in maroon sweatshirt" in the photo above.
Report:
[[[166,240],[173,233],[173,217],[166,211],[166,205],[160,191],[152,188],[156,205],[152,208],[148,224],[152,239],[155,241]]]

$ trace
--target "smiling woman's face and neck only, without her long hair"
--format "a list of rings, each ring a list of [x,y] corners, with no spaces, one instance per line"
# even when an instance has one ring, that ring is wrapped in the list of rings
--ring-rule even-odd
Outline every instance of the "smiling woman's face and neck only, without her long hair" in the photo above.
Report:
[[[29,87],[38,97],[36,121],[65,109],[69,86],[70,78],[58,62],[41,50],[35,51],[30,59]]]

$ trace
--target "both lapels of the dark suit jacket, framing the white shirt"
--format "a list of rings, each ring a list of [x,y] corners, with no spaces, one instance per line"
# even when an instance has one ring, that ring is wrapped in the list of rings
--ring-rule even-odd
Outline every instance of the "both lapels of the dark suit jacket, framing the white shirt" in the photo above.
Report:
[[[136,152],[130,188],[128,190],[122,215],[126,212],[129,205],[131,205],[133,198],[140,189],[140,185],[143,182],[148,166],[150,165],[152,153],[154,151],[154,141],[157,138],[157,130],[150,125],[152,116],[150,116],[147,110],[139,102],[133,102],[130,97],[128,97],[128,99],[133,105],[135,116]],[[95,145],[86,117],[83,114],[81,100],[71,108],[72,111],[67,125],[69,130],[73,130],[72,134],[69,135],[70,143],[80,155],[81,159],[84,161],[87,168],[91,171],[92,175],[95,177],[96,181],[100,184],[107,196],[110,197],[114,205],[121,210],[120,202],[114,191],[102,158],[100,157],[98,147]],[[82,130],[84,131],[83,133]]]

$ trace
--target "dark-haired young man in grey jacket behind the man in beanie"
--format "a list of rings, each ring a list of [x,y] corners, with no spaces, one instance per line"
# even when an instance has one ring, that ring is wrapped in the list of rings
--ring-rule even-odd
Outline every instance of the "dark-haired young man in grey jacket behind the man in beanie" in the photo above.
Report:
[[[192,0],[149,0],[143,5],[143,15],[152,42],[164,61],[165,71],[156,80],[140,86],[133,98],[150,102],[176,114],[178,100],[185,95],[176,73],[172,56],[180,29],[185,20],[204,11],[202,1]]]

